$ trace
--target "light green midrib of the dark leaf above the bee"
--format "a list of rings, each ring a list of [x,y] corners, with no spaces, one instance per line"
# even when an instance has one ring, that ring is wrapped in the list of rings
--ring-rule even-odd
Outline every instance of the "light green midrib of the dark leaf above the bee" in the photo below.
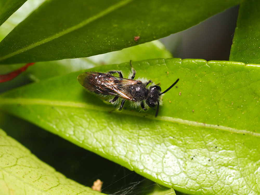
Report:
[[[12,56],[14,56],[14,55],[20,54],[20,53],[22,53],[22,52],[24,52],[24,51],[33,49],[33,48],[35,48],[35,47],[37,47],[37,46],[39,46],[39,45],[41,45],[41,44],[50,42],[50,41],[52,41],[52,40],[54,40],[54,39],[56,39],[56,38],[59,38],[59,37],[61,37],[61,36],[63,36],[63,35],[66,35],[66,34],[68,34],[68,33],[71,33],[72,31],[75,31],[75,30],[77,30],[77,29],[80,29],[80,28],[86,26],[87,24],[89,24],[90,22],[93,22],[93,21],[95,21],[95,20],[97,20],[97,19],[99,19],[99,18],[101,18],[101,17],[103,17],[103,16],[109,14],[110,12],[112,12],[112,11],[114,11],[114,10],[116,10],[116,9],[118,9],[118,8],[120,8],[120,7],[124,6],[124,5],[126,5],[126,4],[128,4],[128,3],[131,2],[131,1],[133,1],[133,0],[122,0],[122,1],[120,1],[120,2],[118,2],[118,3],[116,3],[116,4],[114,4],[114,5],[112,5],[112,6],[110,6],[110,7],[108,7],[107,9],[105,9],[105,10],[99,12],[98,14],[96,14],[96,15],[94,15],[94,16],[92,16],[92,17],[89,17],[89,18],[87,18],[86,20],[83,20],[83,21],[80,22],[79,24],[76,24],[76,25],[74,25],[74,26],[72,26],[72,27],[70,27],[70,28],[67,28],[66,30],[62,30],[62,31],[60,31],[59,33],[55,33],[54,35],[49,36],[49,37],[47,37],[47,38],[45,38],[45,39],[43,39],[43,40],[41,40],[41,41],[34,42],[34,43],[28,45],[27,47],[23,47],[23,48],[21,48],[21,49],[18,49],[17,51],[14,51],[14,52],[12,52],[12,53],[9,53],[9,54],[7,54],[7,55],[4,55],[4,56],[0,57],[0,61],[5,60],[5,59],[7,59],[7,58],[9,58],[9,57],[12,57]]]

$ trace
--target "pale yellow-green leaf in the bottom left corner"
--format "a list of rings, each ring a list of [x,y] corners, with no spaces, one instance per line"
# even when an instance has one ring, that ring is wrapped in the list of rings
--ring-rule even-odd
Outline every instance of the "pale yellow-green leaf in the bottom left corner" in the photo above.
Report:
[[[103,194],[56,172],[0,129],[0,194]]]

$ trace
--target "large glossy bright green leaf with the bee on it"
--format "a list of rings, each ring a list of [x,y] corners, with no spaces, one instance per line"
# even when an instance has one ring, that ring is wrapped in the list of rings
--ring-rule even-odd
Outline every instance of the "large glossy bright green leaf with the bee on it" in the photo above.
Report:
[[[2,94],[0,108],[181,192],[259,194],[259,68],[195,59],[133,67],[136,78],[152,79],[162,90],[180,78],[157,118],[152,109],[139,113],[126,103],[119,112],[103,103],[77,82],[80,72]],[[113,69],[127,74],[130,65],[88,71]]]

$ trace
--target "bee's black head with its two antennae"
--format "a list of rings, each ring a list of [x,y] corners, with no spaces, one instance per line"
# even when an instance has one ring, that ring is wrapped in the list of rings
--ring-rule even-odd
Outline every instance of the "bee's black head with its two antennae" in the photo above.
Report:
[[[154,108],[157,105],[157,110],[155,117],[158,115],[159,112],[159,105],[160,105],[160,96],[164,93],[166,93],[168,90],[170,90],[179,79],[177,79],[168,89],[166,89],[164,92],[161,93],[161,87],[158,85],[154,85],[150,87],[149,95],[146,99],[146,103],[150,108]]]

